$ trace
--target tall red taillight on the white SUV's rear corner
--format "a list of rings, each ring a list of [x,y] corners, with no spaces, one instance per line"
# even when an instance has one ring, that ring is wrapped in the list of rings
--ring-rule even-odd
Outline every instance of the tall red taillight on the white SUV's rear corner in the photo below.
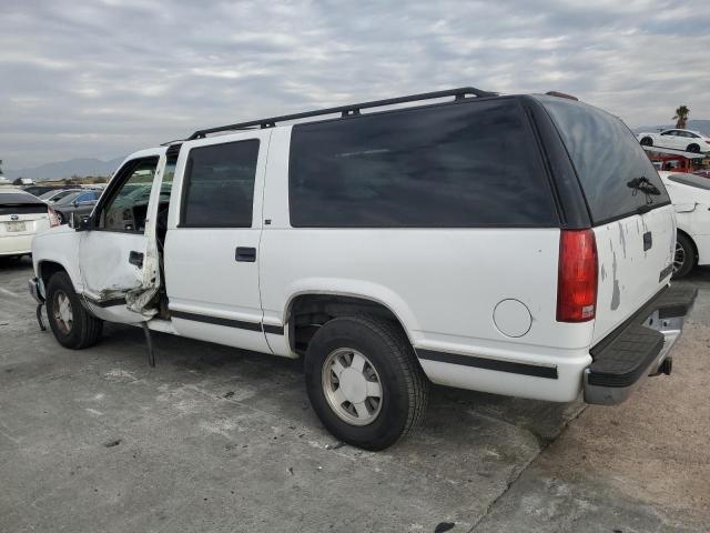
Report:
[[[586,322],[597,311],[597,241],[591,230],[562,230],[559,237],[557,321]]]

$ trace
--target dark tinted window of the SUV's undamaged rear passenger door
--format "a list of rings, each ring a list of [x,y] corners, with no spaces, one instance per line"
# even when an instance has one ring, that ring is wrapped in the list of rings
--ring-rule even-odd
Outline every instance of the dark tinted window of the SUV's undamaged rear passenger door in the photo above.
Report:
[[[193,148],[181,227],[251,228],[258,140]]]

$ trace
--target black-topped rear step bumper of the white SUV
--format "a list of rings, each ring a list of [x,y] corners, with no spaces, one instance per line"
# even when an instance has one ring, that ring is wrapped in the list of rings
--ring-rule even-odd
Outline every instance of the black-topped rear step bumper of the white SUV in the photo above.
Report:
[[[698,289],[671,286],[590,350],[594,362],[584,372],[587,403],[623,402],[648,375],[670,371],[670,352],[680,336]]]

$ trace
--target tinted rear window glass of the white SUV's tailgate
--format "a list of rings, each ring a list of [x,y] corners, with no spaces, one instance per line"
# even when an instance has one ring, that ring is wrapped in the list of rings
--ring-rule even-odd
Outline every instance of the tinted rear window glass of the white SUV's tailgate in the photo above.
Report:
[[[656,168],[620,119],[580,102],[538,98],[567,147],[595,224],[628,217],[643,205],[670,203]],[[638,178],[646,178],[659,194],[629,187]]]

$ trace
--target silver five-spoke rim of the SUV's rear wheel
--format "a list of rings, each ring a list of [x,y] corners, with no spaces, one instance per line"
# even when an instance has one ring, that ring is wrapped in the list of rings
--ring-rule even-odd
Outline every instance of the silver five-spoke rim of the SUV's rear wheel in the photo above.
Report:
[[[338,348],[325,359],[322,376],[325,399],[341,420],[351,425],[367,425],[377,419],[383,386],[367,356],[351,348]]]

